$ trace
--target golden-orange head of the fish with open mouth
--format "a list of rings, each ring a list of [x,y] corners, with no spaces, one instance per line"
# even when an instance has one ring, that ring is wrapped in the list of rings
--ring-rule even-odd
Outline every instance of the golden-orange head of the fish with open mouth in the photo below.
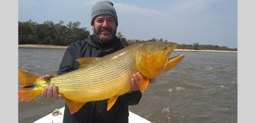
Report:
[[[172,51],[178,47],[174,42],[147,42],[137,51],[137,67],[147,78],[156,78],[176,67],[184,54],[169,58]]]

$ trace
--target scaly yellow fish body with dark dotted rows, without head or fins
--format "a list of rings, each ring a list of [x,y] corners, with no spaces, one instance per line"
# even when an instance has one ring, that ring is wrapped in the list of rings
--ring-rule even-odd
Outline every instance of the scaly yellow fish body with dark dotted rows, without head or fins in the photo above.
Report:
[[[92,64],[70,73],[58,75],[51,83],[58,86],[65,98],[78,102],[105,100],[112,95],[122,95],[131,89],[132,75],[137,72],[136,51],[115,52]],[[123,59],[125,59],[125,61]],[[120,62],[123,61],[123,62]],[[102,65],[102,67],[96,67]],[[111,67],[109,67],[111,66]],[[62,78],[62,79],[60,79]]]

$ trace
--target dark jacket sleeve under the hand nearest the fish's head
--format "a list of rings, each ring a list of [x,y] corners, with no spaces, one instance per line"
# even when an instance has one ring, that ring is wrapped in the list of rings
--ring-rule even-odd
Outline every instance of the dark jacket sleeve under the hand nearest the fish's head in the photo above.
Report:
[[[142,97],[142,93],[141,91],[134,91],[131,94],[124,94],[119,96],[120,100],[123,101],[123,103],[133,106],[139,103],[139,101],[141,100]]]

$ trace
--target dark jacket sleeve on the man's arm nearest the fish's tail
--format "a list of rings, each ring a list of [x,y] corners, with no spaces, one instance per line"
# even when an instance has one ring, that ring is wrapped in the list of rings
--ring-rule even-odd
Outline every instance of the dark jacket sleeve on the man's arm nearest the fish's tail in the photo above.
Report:
[[[75,70],[75,55],[74,55],[74,44],[71,44],[63,55],[62,61],[60,62],[60,68],[57,74],[68,73]]]

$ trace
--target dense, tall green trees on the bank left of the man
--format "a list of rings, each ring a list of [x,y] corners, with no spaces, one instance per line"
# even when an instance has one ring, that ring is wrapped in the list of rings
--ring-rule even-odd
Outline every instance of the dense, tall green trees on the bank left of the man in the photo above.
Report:
[[[19,44],[47,44],[47,45],[70,45],[77,40],[84,40],[90,36],[86,27],[79,28],[80,22],[64,21],[54,24],[52,21],[36,23],[32,20],[18,22]]]

